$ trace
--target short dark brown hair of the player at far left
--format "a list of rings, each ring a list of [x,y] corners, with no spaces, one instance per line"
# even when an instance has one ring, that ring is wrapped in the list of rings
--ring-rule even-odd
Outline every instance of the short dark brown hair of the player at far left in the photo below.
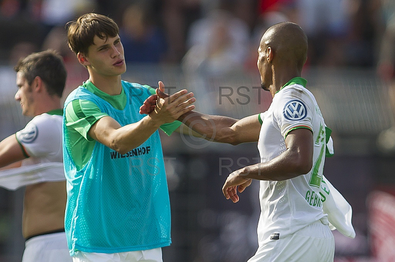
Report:
[[[18,61],[14,67],[21,72],[29,86],[36,76],[45,83],[49,95],[62,97],[66,85],[67,71],[63,58],[53,50],[32,53]]]

